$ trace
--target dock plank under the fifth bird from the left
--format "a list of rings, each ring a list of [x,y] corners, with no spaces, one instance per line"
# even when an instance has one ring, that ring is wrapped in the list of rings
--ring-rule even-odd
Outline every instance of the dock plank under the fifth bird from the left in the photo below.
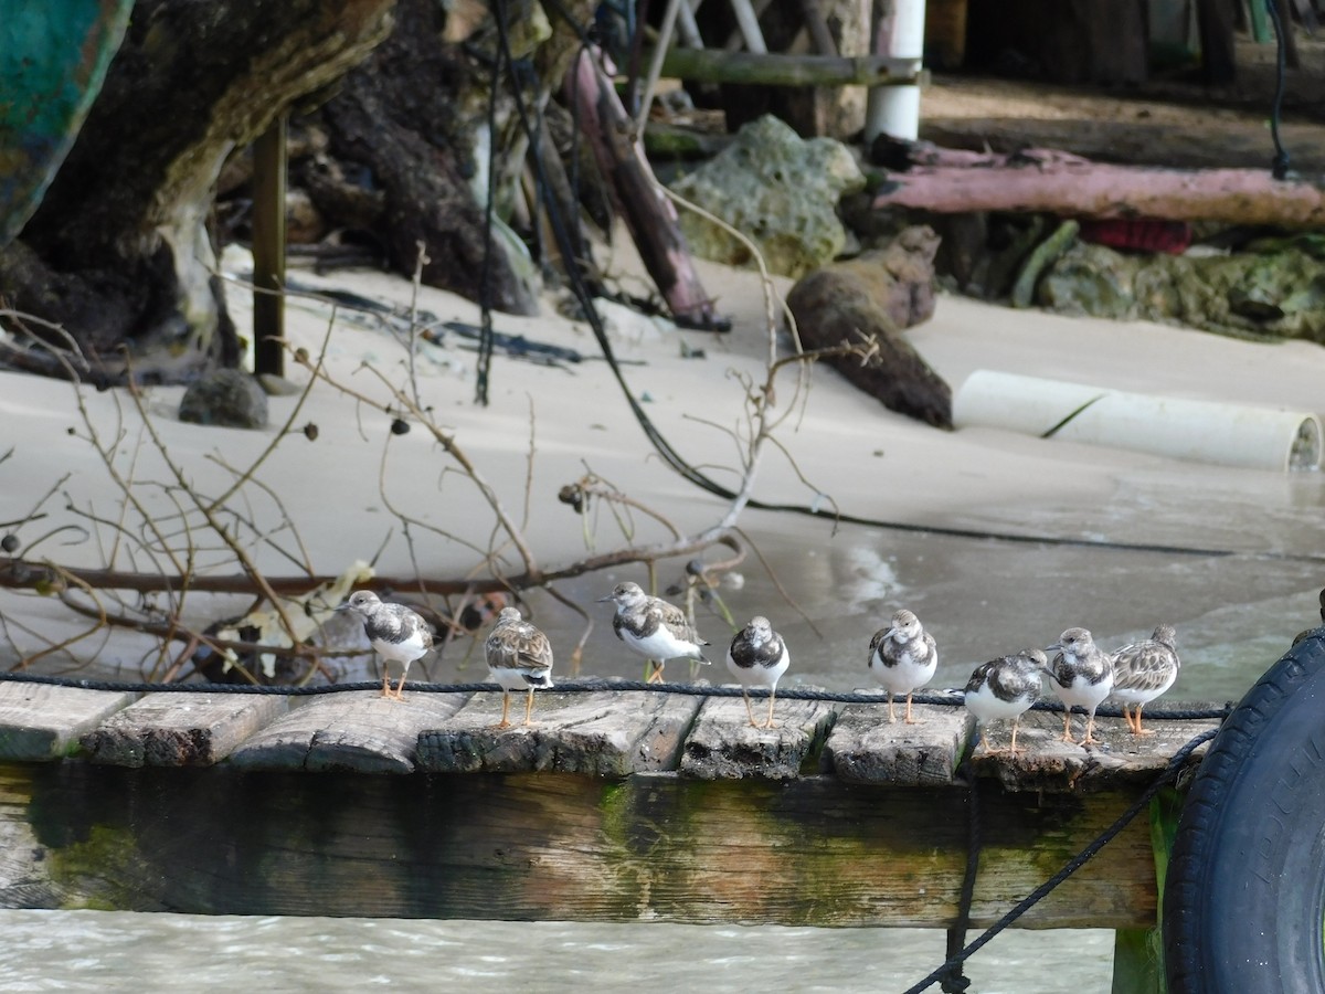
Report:
[[[848,705],[828,733],[824,767],[852,783],[951,783],[970,734],[966,708],[917,704],[912,714],[918,724],[889,724],[886,706]]]

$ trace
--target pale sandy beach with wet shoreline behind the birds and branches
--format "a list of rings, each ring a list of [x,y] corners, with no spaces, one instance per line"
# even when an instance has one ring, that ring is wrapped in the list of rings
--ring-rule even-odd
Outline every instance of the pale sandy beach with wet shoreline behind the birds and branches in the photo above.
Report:
[[[242,253],[228,253],[225,265],[233,273],[242,270]],[[639,272],[620,241],[612,268]],[[302,286],[403,306],[413,296],[408,281],[378,272],[292,276]],[[751,272],[701,264],[701,276],[721,313],[733,319],[730,334],[677,331],[664,321],[613,307],[607,314],[610,335],[631,391],[659,431],[688,463],[735,488],[749,432],[745,384],[765,380],[770,357],[767,305]],[[788,284],[776,280],[774,288],[784,293]],[[250,296],[237,280],[229,304],[237,326],[249,327]],[[478,322],[474,305],[429,288],[419,290],[416,306],[440,321]],[[613,516],[599,505],[578,516],[559,502],[558,490],[586,473],[685,534],[713,526],[727,512],[723,500],[686,482],[652,451],[587,325],[560,317],[553,296],[541,315],[498,314],[494,325],[576,350],[583,360],[546,366],[498,353],[488,407],[474,403],[477,357],[464,339],[452,337],[440,347],[421,343],[411,387],[405,342],[382,322],[344,309],[333,321],[333,309],[309,297],[289,300],[286,321],[292,345],[322,355],[338,384],[368,398],[387,398],[388,384],[411,395],[416,388],[419,404],[450,432],[518,524],[541,569],[619,547],[627,541],[623,527],[635,543],[669,539],[668,525],[640,510]],[[1259,345],[1178,327],[1016,311],[953,296],[942,296],[934,318],[908,334],[954,392],[977,370],[1000,370],[1161,396],[1302,411],[1322,407],[1325,349],[1310,343]],[[775,347],[787,354],[784,331]],[[307,370],[293,362],[288,376],[299,386],[309,380]],[[1318,472],[1231,469],[994,428],[942,432],[886,411],[827,367],[811,370],[808,391],[798,392],[792,368],[776,384],[776,412],[786,419],[775,432],[776,444],[763,448],[754,497],[835,506],[878,522],[835,529],[831,521],[799,514],[750,509],[741,514],[739,524],[800,610],[783,600],[755,557],[729,578],[721,595],[738,622],[755,612],[786,619],[784,631],[799,641],[792,679],[795,671],[802,679],[832,671],[835,660],[852,651],[847,647],[861,637],[868,641],[876,623],[900,606],[896,602],[924,600],[929,584],[946,591],[942,610],[949,615],[954,667],[987,657],[984,641],[1007,643],[1014,634],[1018,644],[1056,636],[1067,616],[1089,615],[1096,619],[1090,624],[1120,637],[1149,631],[1157,596],[1170,598],[1165,610],[1179,627],[1238,599],[1236,591],[1247,603],[1292,596],[1295,614],[1310,610],[1304,598],[1313,584],[1318,587],[1310,579],[1318,565],[1292,557],[1325,549]],[[391,417],[326,383],[302,398],[272,398],[272,427],[257,432],[183,424],[175,417],[180,395],[180,388],[151,388],[148,416],[171,460],[199,492],[212,496],[272,444],[298,406],[292,432],[236,498],[237,513],[270,537],[250,543],[261,570],[292,575],[302,563],[313,573],[341,574],[374,557],[379,575],[411,577],[417,570],[429,578],[465,578],[493,570],[486,562],[493,512],[425,431],[392,435]],[[85,388],[82,399],[87,424],[95,427],[117,472],[135,481],[131,489],[144,512],[174,514],[168,470],[126,396]],[[25,551],[60,525],[81,530],[57,533],[28,554],[89,569],[150,570],[154,559],[166,563],[168,557],[150,550],[142,538],[132,508],[125,510],[74,402],[68,383],[0,374],[4,448],[12,448],[0,463],[0,520],[25,518],[54,488],[40,508],[46,517],[17,530]],[[310,423],[317,425],[315,440],[301,432]],[[91,525],[91,517],[102,524]],[[117,521],[123,529],[118,542],[117,526],[106,524]],[[1104,545],[1083,551],[1031,543],[1028,551],[1024,543],[896,531],[886,527],[889,522]],[[179,533],[176,538],[187,543]],[[193,541],[203,569],[236,573],[215,537],[199,533]],[[1239,569],[1218,571],[1200,557],[1183,565],[1182,555],[1165,559],[1163,569],[1137,565],[1136,558],[1128,567],[1100,566],[1098,557],[1110,555],[1108,543],[1235,553]],[[1040,558],[1027,559],[1032,551]],[[725,554],[718,549],[709,558]],[[1289,557],[1287,566],[1283,557]],[[509,543],[500,550],[500,563],[504,573],[523,567]],[[678,579],[682,565],[664,562],[660,583]],[[1165,579],[1175,569],[1190,573],[1187,586]],[[1096,573],[1100,583],[1053,575],[1073,570]],[[643,565],[629,565],[559,586],[598,623],[586,645],[584,672],[635,673],[635,663],[611,637],[607,614],[590,602],[617,579],[645,577]],[[1155,579],[1146,586],[1138,577]],[[1010,580],[1020,588],[1010,588]],[[962,591],[961,603],[954,603],[954,588]],[[770,598],[775,603],[767,603]],[[195,595],[186,616],[200,623],[240,612],[248,603],[244,596]],[[563,640],[583,631],[583,620],[551,599],[534,596],[530,604],[538,622]],[[30,592],[0,594],[0,610],[21,622],[11,626],[11,644],[3,648],[8,664],[16,647],[32,652],[82,624],[53,599]],[[992,622],[974,626],[984,612],[1015,618],[1004,618],[1002,628]],[[1032,622],[1034,634],[1026,631]],[[1298,627],[1309,622],[1304,616]],[[943,626],[938,619],[939,631]],[[730,637],[716,616],[701,627],[714,643]],[[1273,632],[1277,639],[1283,635]],[[1227,641],[1228,634],[1223,636]],[[1015,645],[990,644],[987,652],[1010,648]],[[143,652],[132,639],[102,644],[98,636],[76,643],[69,653],[48,656],[42,667],[66,669],[95,659],[103,667],[135,668]]]

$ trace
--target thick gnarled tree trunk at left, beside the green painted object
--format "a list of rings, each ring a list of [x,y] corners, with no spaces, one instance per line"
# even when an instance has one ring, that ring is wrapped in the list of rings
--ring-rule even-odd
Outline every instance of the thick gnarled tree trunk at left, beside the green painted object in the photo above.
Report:
[[[125,376],[122,350],[144,379],[236,364],[205,229],[221,166],[359,62],[390,29],[392,7],[140,0],[64,167],[0,252],[0,297],[62,325],[106,382]],[[23,364],[62,371],[42,351]]]

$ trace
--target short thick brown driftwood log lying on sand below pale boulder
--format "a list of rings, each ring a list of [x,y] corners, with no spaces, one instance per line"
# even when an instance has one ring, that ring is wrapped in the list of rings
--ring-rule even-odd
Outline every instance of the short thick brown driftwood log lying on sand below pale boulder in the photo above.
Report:
[[[848,380],[890,411],[951,428],[951,388],[898,334],[934,313],[937,250],[931,229],[908,228],[885,249],[810,273],[791,288],[787,306],[806,349],[872,349],[865,360],[827,359]]]

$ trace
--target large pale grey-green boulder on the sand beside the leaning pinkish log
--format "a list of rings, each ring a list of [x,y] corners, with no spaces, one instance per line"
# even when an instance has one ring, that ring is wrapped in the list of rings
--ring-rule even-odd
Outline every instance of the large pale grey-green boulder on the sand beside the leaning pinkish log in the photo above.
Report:
[[[771,272],[800,277],[845,248],[837,200],[863,190],[865,178],[841,142],[804,140],[765,115],[672,186],[749,237]],[[729,265],[751,262],[750,250],[716,224],[684,208],[680,215],[681,231],[697,256]]]

